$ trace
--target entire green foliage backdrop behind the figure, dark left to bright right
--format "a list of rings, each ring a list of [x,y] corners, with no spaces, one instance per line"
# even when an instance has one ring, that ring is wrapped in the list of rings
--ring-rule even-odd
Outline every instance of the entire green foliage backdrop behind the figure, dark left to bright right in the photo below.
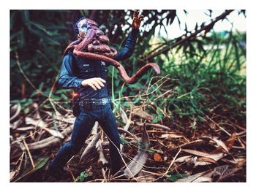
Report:
[[[245,15],[244,10],[238,11],[238,14],[241,13]],[[122,62],[129,75],[135,74],[143,66],[139,58],[151,53],[154,47],[168,47],[181,39],[159,37],[152,42],[152,37],[159,32],[159,28],[165,28],[164,24],[171,25],[173,20],[178,19],[175,10],[145,10],[142,14],[146,16],[146,20],[140,30],[138,45],[132,57]],[[61,53],[69,42],[75,40],[72,22],[81,15],[98,21],[114,47],[119,49],[124,45],[131,30],[130,10],[10,12],[12,103],[19,102],[24,110],[33,101],[41,104],[45,101],[45,96],[49,96],[52,101],[69,108],[72,91],[56,88],[56,77],[61,66]],[[211,16],[211,10],[208,15]],[[199,26],[196,24],[195,29],[197,28]],[[185,28],[184,37],[189,34],[191,33]],[[18,69],[15,53],[19,55],[20,65],[26,76],[45,96],[26,82]],[[135,85],[127,85],[120,79],[117,70],[109,67],[108,78],[112,98],[116,99],[116,112],[129,109],[129,102],[125,101],[124,96],[134,96],[132,103],[145,104],[146,111],[154,116],[154,123],[161,123],[165,118],[170,121],[186,118],[189,119],[191,128],[197,128],[197,122],[204,120],[205,115],[218,106],[220,110],[228,110],[227,115],[244,117],[246,34],[232,31],[217,33],[211,30],[206,36],[185,41],[148,62],[153,61],[159,64],[161,76],[166,78],[151,80],[154,72],[148,72]],[[154,84],[157,80],[159,82]],[[161,83],[163,84],[157,87]],[[165,94],[166,91],[171,92]],[[146,95],[141,96],[143,94]],[[162,94],[165,95],[159,97]],[[46,102],[44,107],[53,110],[50,102]]]

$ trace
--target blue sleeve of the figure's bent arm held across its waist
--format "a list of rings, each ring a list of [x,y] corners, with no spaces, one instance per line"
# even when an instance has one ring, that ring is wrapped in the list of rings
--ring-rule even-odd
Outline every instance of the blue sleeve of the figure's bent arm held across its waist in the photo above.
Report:
[[[67,54],[64,56],[61,65],[61,72],[59,74],[58,85],[61,88],[80,88],[83,79],[75,77],[75,58]]]

